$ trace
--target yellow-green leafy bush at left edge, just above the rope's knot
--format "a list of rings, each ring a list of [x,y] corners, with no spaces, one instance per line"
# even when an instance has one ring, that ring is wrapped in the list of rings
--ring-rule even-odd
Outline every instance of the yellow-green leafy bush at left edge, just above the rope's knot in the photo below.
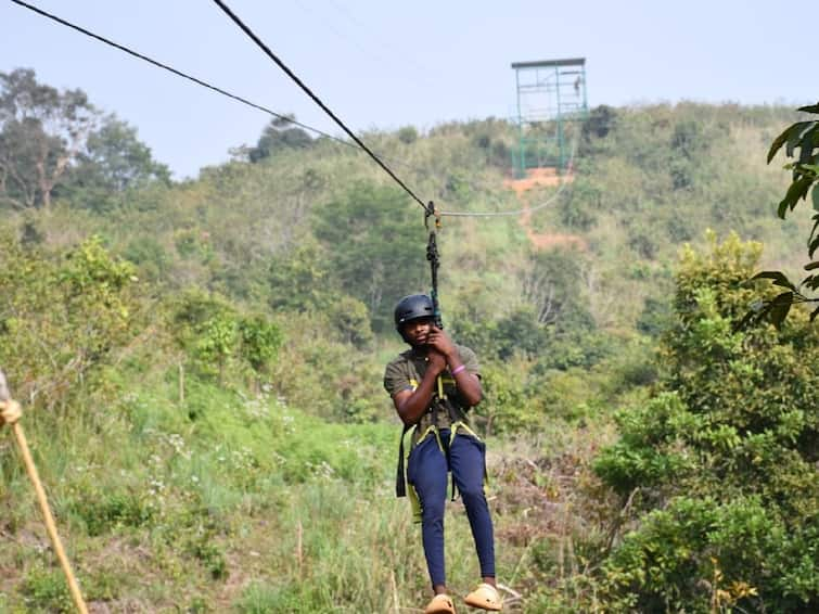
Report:
[[[0,364],[15,393],[47,407],[95,382],[137,334],[140,302],[133,266],[99,238],[59,255],[0,241]]]

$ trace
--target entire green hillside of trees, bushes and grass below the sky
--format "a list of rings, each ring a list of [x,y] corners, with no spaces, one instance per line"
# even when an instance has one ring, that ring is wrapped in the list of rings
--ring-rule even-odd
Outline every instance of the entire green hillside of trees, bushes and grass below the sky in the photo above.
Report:
[[[804,265],[809,207],[777,206],[805,130],[766,154],[805,117],[600,106],[571,176],[525,192],[504,119],[361,135],[440,209],[529,209],[438,232],[507,612],[819,609],[819,330],[798,307],[738,325],[778,294],[755,273]],[[21,68],[0,213],[0,368],[92,611],[421,611],[382,379],[426,231],[371,159],[279,119],[175,181],[136,127]],[[0,611],[69,612],[0,433]],[[460,502],[447,519],[465,593]]]

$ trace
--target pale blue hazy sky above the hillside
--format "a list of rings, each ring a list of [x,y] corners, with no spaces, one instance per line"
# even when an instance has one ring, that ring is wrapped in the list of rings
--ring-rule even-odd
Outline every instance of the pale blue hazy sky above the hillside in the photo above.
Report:
[[[207,0],[31,0],[137,51],[341,133]],[[816,37],[771,0],[228,0],[355,130],[511,115],[512,62],[585,56],[590,105],[802,104]],[[804,10],[803,10],[804,12]],[[812,40],[811,40],[812,39]],[[801,61],[799,57],[803,60]],[[0,0],[0,71],[79,87],[176,176],[254,143],[269,117]]]

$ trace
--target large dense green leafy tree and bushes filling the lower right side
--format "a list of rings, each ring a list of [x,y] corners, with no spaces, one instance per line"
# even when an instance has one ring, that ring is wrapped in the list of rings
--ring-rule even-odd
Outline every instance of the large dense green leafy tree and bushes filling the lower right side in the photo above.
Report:
[[[686,252],[660,392],[597,461],[631,527],[602,566],[614,610],[819,605],[819,333],[803,312],[734,330],[757,257],[735,236]]]

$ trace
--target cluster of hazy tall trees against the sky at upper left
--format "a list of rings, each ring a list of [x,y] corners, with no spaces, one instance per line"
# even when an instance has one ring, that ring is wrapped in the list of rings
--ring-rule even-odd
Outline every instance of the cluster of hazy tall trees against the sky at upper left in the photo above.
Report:
[[[42,85],[30,68],[0,73],[0,205],[50,208],[63,196],[104,209],[125,190],[169,180],[137,130],[82,90]]]

